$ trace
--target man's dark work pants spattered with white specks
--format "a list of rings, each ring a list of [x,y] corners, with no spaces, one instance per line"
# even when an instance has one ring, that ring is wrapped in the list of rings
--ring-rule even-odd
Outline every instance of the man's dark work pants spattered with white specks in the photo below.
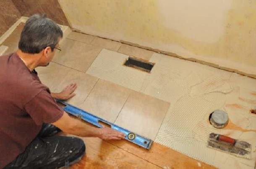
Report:
[[[56,169],[79,161],[85,153],[84,141],[76,137],[54,136],[60,131],[44,124],[25,151],[4,169]]]

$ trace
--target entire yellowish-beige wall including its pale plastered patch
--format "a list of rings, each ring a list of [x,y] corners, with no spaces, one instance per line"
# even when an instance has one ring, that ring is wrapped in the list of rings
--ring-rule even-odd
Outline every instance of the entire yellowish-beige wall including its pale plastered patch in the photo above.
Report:
[[[71,27],[84,33],[256,75],[255,0],[59,0],[59,3]]]

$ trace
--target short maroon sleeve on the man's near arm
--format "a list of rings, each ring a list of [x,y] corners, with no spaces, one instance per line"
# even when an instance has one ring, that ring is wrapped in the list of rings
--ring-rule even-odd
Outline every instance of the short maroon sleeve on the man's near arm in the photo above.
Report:
[[[45,90],[26,103],[24,108],[37,125],[53,123],[63,115],[63,110],[57,105],[50,93]]]

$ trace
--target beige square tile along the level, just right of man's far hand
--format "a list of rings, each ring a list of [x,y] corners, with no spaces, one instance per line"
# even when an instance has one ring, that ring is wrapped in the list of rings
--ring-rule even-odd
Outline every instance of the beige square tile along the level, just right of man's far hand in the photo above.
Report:
[[[114,123],[130,93],[128,88],[100,79],[79,107]]]

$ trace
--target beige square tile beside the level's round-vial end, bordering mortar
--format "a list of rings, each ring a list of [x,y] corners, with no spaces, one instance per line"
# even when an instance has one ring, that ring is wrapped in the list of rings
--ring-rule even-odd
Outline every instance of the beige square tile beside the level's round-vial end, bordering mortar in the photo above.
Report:
[[[115,124],[154,140],[170,103],[133,91]]]

